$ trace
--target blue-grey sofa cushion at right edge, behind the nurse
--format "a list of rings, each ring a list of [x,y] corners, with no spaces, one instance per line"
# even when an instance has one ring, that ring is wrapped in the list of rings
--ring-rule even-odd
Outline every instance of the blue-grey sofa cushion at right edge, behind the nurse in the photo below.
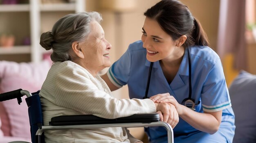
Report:
[[[256,75],[241,71],[229,87],[235,113],[233,143],[256,143]]]

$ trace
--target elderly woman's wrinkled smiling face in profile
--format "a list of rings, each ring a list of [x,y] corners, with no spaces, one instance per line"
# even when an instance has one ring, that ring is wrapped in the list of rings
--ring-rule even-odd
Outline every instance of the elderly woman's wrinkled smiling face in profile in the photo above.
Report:
[[[104,30],[101,25],[92,21],[90,23],[91,32],[85,43],[81,45],[83,54],[85,56],[84,64],[88,69],[101,71],[106,67],[110,67],[109,50],[110,43],[104,37]]]

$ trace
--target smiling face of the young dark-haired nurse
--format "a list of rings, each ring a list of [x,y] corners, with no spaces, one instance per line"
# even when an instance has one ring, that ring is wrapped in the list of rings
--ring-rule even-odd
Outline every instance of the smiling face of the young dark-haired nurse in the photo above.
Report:
[[[155,62],[174,56],[175,41],[162,30],[156,20],[146,17],[142,30],[141,40],[147,49],[148,61]]]

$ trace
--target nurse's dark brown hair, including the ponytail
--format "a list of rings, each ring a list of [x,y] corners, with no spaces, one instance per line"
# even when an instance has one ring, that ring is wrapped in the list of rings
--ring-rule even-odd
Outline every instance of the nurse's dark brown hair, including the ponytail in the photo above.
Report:
[[[189,8],[178,0],[162,0],[148,9],[144,15],[154,19],[173,40],[186,35],[183,44],[208,46],[208,38],[200,22],[196,20]]]

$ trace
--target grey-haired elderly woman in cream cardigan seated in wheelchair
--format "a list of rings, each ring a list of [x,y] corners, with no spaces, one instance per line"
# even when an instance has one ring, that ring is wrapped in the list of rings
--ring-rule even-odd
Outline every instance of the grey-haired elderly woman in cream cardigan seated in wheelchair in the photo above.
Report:
[[[174,106],[150,99],[114,98],[97,75],[110,66],[111,45],[104,38],[101,20],[97,12],[69,14],[56,22],[52,32],[41,35],[40,45],[53,50],[54,62],[39,93],[45,125],[59,115],[90,114],[113,119],[158,112],[174,128],[179,120]],[[47,131],[45,142],[140,142],[127,131],[121,127]]]

